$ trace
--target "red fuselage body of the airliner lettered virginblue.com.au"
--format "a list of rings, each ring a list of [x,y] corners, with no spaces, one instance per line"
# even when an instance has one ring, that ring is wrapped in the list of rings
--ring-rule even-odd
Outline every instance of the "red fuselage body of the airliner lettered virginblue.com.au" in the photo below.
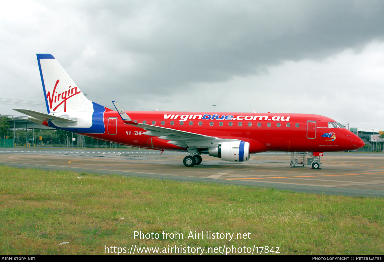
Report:
[[[250,153],[333,152],[356,150],[364,146],[364,142],[348,129],[329,128],[328,123],[335,121],[321,115],[143,111],[126,111],[126,113],[137,123],[146,121],[144,123],[159,127],[217,138],[243,140],[250,143]],[[205,118],[213,116],[214,119],[202,119],[204,116]],[[180,117],[184,121],[180,121]],[[106,109],[103,119],[105,125],[103,134],[84,135],[132,147],[187,151],[186,148],[167,143],[168,140],[142,134],[145,132],[142,128],[124,124],[116,111]]]

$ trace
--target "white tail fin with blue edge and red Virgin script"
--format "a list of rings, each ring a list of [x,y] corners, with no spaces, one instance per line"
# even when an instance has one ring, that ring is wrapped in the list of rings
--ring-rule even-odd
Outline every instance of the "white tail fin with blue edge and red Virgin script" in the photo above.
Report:
[[[92,101],[84,96],[51,54],[36,56],[48,114],[93,111]]]

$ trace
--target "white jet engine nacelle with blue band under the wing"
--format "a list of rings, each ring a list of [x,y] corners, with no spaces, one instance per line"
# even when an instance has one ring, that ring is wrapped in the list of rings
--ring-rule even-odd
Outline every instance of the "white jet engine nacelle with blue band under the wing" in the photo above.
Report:
[[[249,143],[244,141],[225,142],[208,148],[208,155],[225,161],[247,161],[250,158]]]

